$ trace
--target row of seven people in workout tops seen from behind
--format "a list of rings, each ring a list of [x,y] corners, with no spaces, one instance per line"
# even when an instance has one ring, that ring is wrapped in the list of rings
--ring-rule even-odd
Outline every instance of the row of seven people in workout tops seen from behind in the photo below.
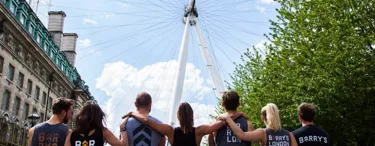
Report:
[[[235,91],[222,95],[225,113],[213,123],[194,126],[194,112],[189,103],[181,103],[177,111],[179,127],[164,124],[149,115],[152,98],[146,93],[136,97],[136,112],[122,117],[120,136],[116,137],[105,127],[105,114],[98,104],[85,103],[74,118],[74,129],[66,124],[72,117],[73,101],[58,99],[52,105],[53,116],[29,130],[29,146],[199,146],[203,136],[209,135],[209,146],[330,146],[329,135],[314,125],[316,109],[303,103],[298,107],[298,119],[302,127],[289,132],[281,127],[279,110],[273,103],[261,109],[266,128],[253,129],[248,117],[237,111],[240,97]],[[166,140],[167,138],[167,140]]]

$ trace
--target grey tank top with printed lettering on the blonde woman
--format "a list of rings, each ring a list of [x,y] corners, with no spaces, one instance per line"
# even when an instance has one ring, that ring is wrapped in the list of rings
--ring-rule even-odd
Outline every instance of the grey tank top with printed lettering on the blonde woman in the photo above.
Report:
[[[264,129],[267,134],[267,146],[290,146],[289,131],[281,128],[280,131],[274,132],[271,129]]]

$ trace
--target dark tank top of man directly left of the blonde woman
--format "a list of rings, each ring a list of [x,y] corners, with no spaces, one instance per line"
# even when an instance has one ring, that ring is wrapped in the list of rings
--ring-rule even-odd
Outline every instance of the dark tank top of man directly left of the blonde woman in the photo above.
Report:
[[[248,131],[247,120],[243,117],[239,117],[234,122],[242,131]],[[251,146],[251,142],[241,141],[233,133],[229,126],[221,128],[216,133],[216,146]]]

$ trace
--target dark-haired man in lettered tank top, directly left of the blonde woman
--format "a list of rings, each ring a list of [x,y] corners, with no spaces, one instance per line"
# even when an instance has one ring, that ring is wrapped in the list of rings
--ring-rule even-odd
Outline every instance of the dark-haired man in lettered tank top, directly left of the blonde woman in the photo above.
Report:
[[[240,105],[240,96],[236,91],[225,91],[222,95],[221,106],[225,109],[225,114],[238,113],[237,108]],[[242,131],[253,131],[253,125],[245,117],[238,117],[234,120],[236,125]],[[218,131],[209,135],[209,146],[251,146],[251,141],[240,140],[230,129],[229,126],[220,128]]]

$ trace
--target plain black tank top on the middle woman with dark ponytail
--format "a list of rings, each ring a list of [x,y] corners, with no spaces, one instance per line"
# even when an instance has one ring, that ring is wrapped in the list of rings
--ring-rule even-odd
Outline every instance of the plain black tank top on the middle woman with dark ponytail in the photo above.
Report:
[[[174,140],[172,146],[196,146],[195,127],[191,133],[184,133],[180,127],[174,129]]]

